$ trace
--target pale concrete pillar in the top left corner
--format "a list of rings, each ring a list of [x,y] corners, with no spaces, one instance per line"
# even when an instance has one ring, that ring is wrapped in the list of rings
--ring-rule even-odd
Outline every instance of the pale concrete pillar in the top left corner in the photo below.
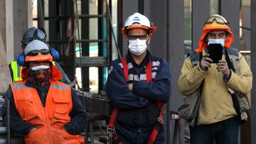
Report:
[[[32,1],[0,1],[0,33],[8,63],[16,60],[18,52],[21,52],[22,35],[31,26]]]

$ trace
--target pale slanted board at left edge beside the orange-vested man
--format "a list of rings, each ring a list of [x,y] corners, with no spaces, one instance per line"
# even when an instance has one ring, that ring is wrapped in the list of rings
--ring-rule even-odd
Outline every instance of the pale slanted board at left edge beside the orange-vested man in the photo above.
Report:
[[[5,93],[11,83],[11,74],[6,60],[6,50],[0,33],[0,93]]]

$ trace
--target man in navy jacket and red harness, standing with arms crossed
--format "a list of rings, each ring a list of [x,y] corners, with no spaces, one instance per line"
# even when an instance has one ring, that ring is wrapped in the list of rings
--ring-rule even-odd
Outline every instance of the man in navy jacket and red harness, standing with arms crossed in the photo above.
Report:
[[[155,30],[149,19],[140,13],[129,16],[122,29],[129,50],[122,62],[111,63],[105,87],[114,109],[118,109],[112,143],[148,143],[161,113],[156,102],[169,101],[169,64],[146,50]],[[159,133],[152,143],[164,143],[163,124],[156,129]]]

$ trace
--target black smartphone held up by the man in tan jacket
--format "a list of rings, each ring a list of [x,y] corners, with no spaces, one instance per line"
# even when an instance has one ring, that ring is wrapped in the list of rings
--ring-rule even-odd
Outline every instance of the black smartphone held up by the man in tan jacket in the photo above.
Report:
[[[210,59],[213,60],[211,63],[218,63],[222,59],[223,46],[218,43],[208,45],[208,54],[210,54]]]

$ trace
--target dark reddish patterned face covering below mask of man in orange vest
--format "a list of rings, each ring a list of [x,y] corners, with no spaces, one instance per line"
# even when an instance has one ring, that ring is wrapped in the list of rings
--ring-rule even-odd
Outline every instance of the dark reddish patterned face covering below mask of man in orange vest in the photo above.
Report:
[[[31,70],[28,68],[28,81],[38,86],[46,86],[50,84],[50,68],[45,70]]]

